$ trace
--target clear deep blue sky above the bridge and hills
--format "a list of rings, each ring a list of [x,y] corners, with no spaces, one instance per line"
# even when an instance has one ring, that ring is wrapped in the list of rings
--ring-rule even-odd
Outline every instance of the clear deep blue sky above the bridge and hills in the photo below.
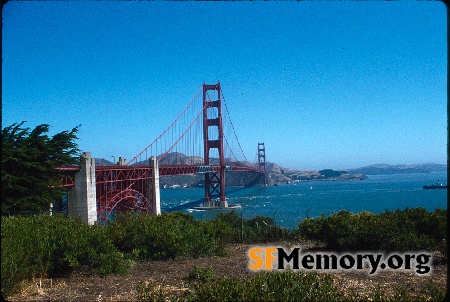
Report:
[[[438,1],[8,2],[2,127],[81,124],[131,159],[220,80],[249,160],[293,169],[447,162]]]

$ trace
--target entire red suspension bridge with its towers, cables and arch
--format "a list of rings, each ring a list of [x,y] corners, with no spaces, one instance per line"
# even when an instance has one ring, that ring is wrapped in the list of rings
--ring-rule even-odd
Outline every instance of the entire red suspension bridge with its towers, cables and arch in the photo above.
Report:
[[[203,84],[170,126],[128,162],[119,158],[117,165],[95,166],[89,153],[84,159],[81,167],[59,169],[66,174],[63,185],[77,189],[70,189],[74,192],[69,196],[74,196],[69,197],[68,214],[95,216],[86,218],[91,223],[105,223],[115,212],[158,214],[159,204],[155,202],[158,199],[159,203],[159,176],[204,174],[203,206],[208,208],[228,207],[226,172],[258,172],[265,182],[264,144],[258,143],[258,164],[252,166],[237,138],[220,82]],[[84,215],[85,211],[91,214]]]

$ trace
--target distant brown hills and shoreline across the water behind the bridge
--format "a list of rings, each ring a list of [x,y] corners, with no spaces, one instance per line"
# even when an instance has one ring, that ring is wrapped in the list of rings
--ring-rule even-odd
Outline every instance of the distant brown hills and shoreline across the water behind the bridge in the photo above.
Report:
[[[160,165],[201,165],[200,157],[189,157],[179,152],[168,154],[159,164]],[[210,159],[211,164],[218,164],[218,159]],[[226,165],[236,165],[237,161],[233,159],[225,159]],[[95,159],[96,165],[113,165],[106,159]],[[148,161],[142,161],[137,164],[148,164]],[[241,162],[240,165],[258,167],[255,162]],[[333,169],[323,170],[294,170],[281,167],[275,163],[266,162],[266,180],[269,186],[291,182],[304,182],[312,180],[323,181],[342,181],[342,180],[364,180],[366,175],[382,175],[382,174],[409,174],[409,173],[431,173],[446,172],[447,165],[442,164],[414,164],[414,165],[387,165],[375,164],[371,166],[347,169],[345,171],[336,171]],[[232,172],[227,173],[225,180],[226,186],[255,186],[260,183],[262,174],[255,172]],[[162,188],[188,188],[202,187],[204,185],[204,174],[197,175],[177,175],[164,176],[160,178],[160,186]]]

